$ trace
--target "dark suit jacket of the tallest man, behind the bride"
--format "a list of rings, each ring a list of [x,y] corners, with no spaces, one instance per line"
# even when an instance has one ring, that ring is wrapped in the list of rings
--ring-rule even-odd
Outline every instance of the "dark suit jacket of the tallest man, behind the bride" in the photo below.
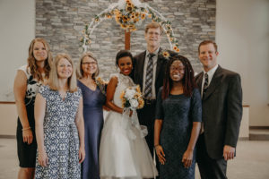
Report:
[[[156,75],[155,75],[155,94],[157,96],[157,93],[161,86],[163,85],[163,77],[165,73],[165,67],[166,64],[169,62],[168,59],[164,58],[161,55],[161,47],[159,49],[158,53],[158,59],[157,59],[157,67],[156,67]],[[169,51],[169,54],[171,56],[177,55],[175,52]],[[145,60],[146,51],[143,51],[143,53],[139,55],[134,56],[134,83],[139,84],[141,90],[143,90],[143,65]]]

